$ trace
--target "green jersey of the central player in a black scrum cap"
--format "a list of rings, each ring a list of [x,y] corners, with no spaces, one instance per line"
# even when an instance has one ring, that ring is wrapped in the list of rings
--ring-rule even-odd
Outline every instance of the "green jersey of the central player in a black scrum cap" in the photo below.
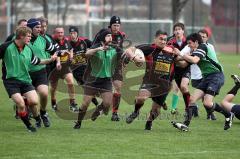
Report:
[[[97,48],[95,45],[92,48]],[[111,78],[117,64],[118,53],[115,48],[109,47],[104,51],[97,51],[89,60],[91,75],[97,78]]]

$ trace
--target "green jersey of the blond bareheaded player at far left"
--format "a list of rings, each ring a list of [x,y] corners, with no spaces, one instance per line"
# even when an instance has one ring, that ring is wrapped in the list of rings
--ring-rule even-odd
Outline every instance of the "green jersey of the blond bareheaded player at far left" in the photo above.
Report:
[[[30,66],[37,65],[40,59],[33,54],[33,50],[25,45],[19,51],[15,41],[0,46],[0,58],[4,62],[3,79],[16,79],[24,83],[31,83],[29,75]]]

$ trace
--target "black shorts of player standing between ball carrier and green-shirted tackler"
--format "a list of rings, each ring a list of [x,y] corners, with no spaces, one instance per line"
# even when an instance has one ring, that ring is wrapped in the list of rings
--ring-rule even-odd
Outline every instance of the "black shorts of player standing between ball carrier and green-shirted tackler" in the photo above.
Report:
[[[187,66],[186,68],[179,68],[176,67],[174,72],[174,79],[177,83],[178,88],[180,88],[182,78],[188,78],[191,79],[191,69],[190,66]]]

